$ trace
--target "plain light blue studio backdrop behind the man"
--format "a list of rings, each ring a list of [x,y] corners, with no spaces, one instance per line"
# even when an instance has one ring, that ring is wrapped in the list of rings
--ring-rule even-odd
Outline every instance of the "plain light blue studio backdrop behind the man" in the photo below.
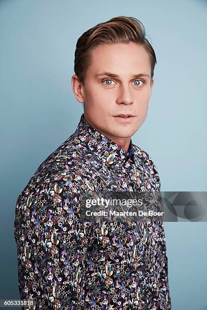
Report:
[[[156,55],[148,117],[132,137],[153,159],[162,191],[206,190],[205,1],[0,2],[1,296],[19,298],[13,236],[17,196],[76,129],[78,37],[112,17],[140,19]],[[206,223],[164,223],[175,310],[207,309]]]

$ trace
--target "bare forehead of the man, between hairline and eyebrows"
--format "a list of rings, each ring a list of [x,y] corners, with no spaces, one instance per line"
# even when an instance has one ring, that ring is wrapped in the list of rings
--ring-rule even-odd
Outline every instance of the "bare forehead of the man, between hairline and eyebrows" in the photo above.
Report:
[[[150,57],[141,44],[102,44],[92,51],[89,73],[111,71],[117,74],[127,72],[151,72]]]

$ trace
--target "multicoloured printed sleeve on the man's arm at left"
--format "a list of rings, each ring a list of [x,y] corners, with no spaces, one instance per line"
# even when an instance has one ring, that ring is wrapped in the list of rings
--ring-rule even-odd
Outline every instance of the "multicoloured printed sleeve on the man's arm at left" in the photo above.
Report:
[[[59,177],[27,185],[16,203],[19,292],[37,309],[78,309],[90,225],[79,221],[76,188]]]

